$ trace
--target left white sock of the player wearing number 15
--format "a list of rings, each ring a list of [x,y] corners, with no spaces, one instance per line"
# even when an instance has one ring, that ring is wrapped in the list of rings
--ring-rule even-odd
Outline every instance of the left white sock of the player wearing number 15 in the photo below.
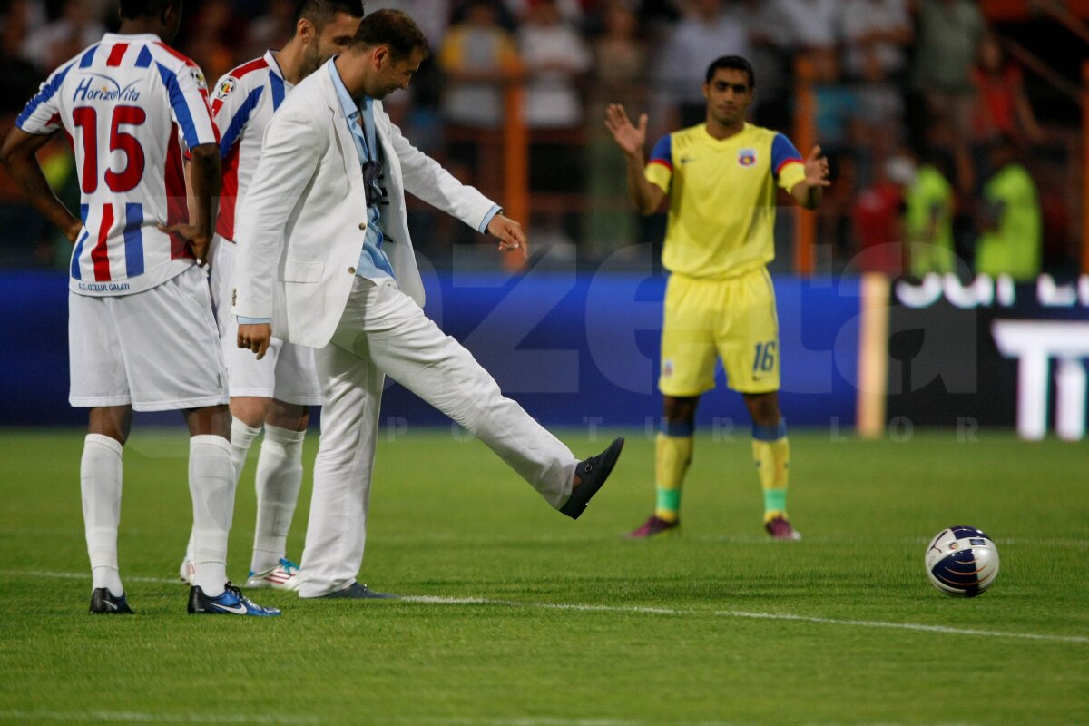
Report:
[[[118,526],[121,524],[121,454],[115,439],[88,433],[79,459],[83,522],[94,589],[124,594],[118,570]]]

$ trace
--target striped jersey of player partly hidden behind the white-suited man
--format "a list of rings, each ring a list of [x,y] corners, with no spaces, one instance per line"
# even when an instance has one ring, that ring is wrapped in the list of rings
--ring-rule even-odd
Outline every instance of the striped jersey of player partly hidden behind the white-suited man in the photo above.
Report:
[[[265,126],[292,88],[271,50],[231,70],[216,84],[211,112],[220,128],[223,163],[216,232],[224,239],[234,241],[235,211],[257,170]]]

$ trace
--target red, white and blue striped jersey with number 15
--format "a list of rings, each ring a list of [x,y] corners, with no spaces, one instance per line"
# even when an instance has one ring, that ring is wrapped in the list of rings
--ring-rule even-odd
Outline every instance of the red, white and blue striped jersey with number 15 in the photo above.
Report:
[[[184,238],[157,227],[188,221],[182,144],[219,143],[196,63],[155,35],[108,33],[53,71],[15,123],[72,141],[83,220],[73,292],[138,293],[195,263]]]

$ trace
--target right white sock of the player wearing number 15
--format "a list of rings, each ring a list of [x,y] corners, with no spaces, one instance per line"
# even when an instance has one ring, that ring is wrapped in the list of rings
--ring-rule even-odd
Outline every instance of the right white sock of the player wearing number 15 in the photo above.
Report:
[[[227,583],[227,536],[234,516],[231,442],[222,436],[189,438],[193,496],[193,585],[215,598]]]

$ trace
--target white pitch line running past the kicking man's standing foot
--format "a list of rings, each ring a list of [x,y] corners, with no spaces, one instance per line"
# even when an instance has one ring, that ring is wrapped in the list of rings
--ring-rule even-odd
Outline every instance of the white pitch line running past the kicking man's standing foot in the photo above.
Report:
[[[35,570],[5,570],[7,577],[51,577],[68,580],[87,580],[89,576],[79,573],[48,573]],[[180,580],[162,577],[125,577],[132,582],[154,582],[180,585]],[[976,630],[972,628],[952,628],[944,625],[926,625],[922,623],[889,623],[884,620],[853,620],[834,617],[816,617],[794,615],[792,613],[752,613],[746,611],[698,611],[677,610],[673,607],[648,607],[639,605],[588,605],[582,603],[541,603],[519,602],[514,600],[492,600],[489,598],[442,598],[435,595],[407,595],[401,602],[423,603],[429,605],[491,605],[502,607],[533,607],[539,610],[566,610],[584,613],[641,613],[648,615],[713,615],[715,617],[745,618],[750,620],[793,620],[796,623],[817,623],[820,625],[839,625],[851,628],[888,628],[892,630],[915,630],[921,632],[941,632],[955,636],[976,636],[983,638],[1014,638],[1019,640],[1043,640],[1061,643],[1089,643],[1089,636],[1054,636],[1039,632],[1016,632],[1007,630]]]

